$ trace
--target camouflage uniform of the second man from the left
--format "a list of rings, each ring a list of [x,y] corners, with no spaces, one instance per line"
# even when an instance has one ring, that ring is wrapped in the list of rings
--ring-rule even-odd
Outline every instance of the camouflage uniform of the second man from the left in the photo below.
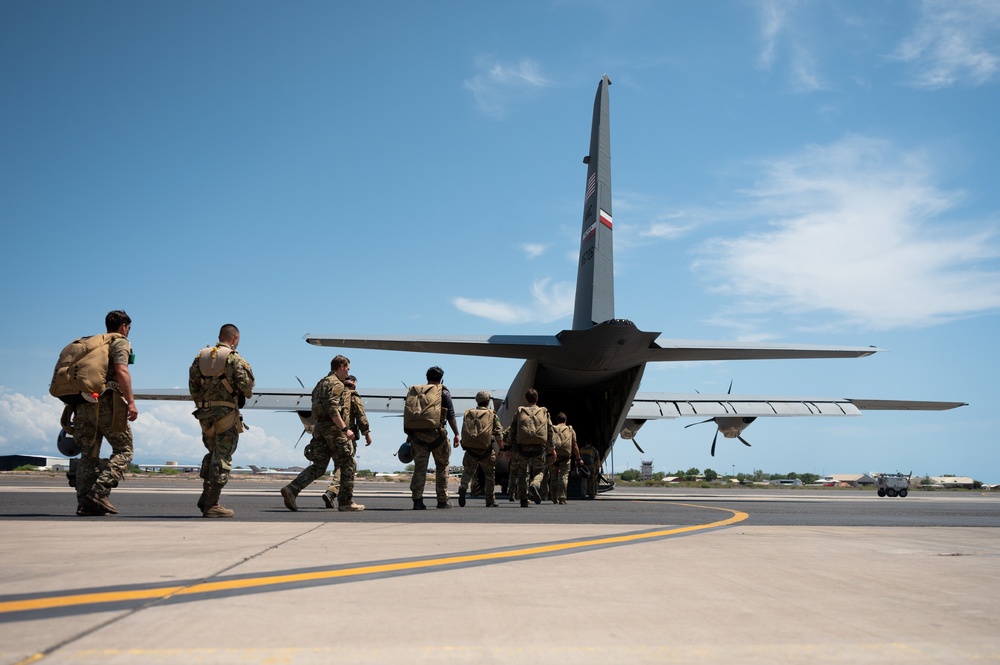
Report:
[[[188,390],[197,407],[194,416],[201,424],[201,442],[208,451],[201,460],[199,475],[206,485],[217,485],[220,491],[229,482],[233,453],[243,431],[239,405],[253,397],[254,388],[250,363],[224,342],[213,348],[221,347],[229,349],[229,356],[220,376],[202,374],[201,352],[188,370]]]

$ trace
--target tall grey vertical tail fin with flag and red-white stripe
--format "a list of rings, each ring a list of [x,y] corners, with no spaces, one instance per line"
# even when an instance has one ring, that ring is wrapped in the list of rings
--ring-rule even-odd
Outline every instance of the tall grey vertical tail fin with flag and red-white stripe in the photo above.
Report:
[[[583,200],[583,234],[576,277],[573,330],[585,330],[615,318],[614,254],[611,241],[611,128],[608,86],[601,77],[594,99],[590,130],[586,193]]]

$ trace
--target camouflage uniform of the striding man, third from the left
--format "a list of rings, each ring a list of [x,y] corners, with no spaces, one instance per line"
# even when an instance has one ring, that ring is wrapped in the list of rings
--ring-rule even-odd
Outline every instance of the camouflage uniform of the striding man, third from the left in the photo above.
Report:
[[[320,379],[312,394],[312,413],[316,417],[313,438],[306,446],[307,459],[312,464],[303,469],[295,480],[286,485],[295,496],[314,480],[326,473],[330,460],[340,469],[340,492],[337,499],[341,509],[354,500],[354,444],[345,432],[334,424],[334,413],[344,413],[344,383],[335,372]]]

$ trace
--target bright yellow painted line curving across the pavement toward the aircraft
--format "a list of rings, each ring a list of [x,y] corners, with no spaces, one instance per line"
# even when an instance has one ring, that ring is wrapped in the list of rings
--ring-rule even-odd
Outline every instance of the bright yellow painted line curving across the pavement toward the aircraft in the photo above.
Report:
[[[680,504],[692,505],[692,504]],[[537,545],[534,547],[524,547],[516,550],[506,550],[503,552],[485,552],[480,554],[462,554],[453,556],[435,557],[420,559],[417,561],[404,561],[398,563],[373,564],[370,566],[358,566],[355,568],[343,568],[339,570],[320,570],[308,573],[290,573],[285,575],[268,575],[265,577],[251,577],[238,580],[221,580],[217,582],[201,582],[191,586],[169,586],[156,587],[151,589],[137,589],[134,591],[108,591],[99,593],[84,593],[67,596],[54,596],[49,598],[36,598],[31,600],[12,600],[0,602],[0,614],[12,612],[29,612],[33,610],[53,609],[59,607],[71,607],[77,605],[100,605],[102,603],[120,603],[136,600],[164,599],[171,596],[190,596],[204,593],[214,593],[218,591],[234,591],[240,589],[252,589],[280,584],[292,584],[296,582],[315,582],[320,580],[330,580],[344,577],[359,577],[363,575],[373,575],[379,573],[391,573],[399,571],[417,571],[421,569],[439,568],[454,566],[463,563],[502,561],[505,559],[518,559],[538,554],[553,554],[559,552],[569,552],[572,550],[586,549],[589,547],[600,547],[603,545],[621,545],[626,543],[651,540],[665,536],[673,536],[682,533],[703,531],[705,529],[715,529],[723,526],[736,524],[747,519],[749,515],[742,511],[730,508],[717,508],[715,506],[694,506],[696,508],[710,508],[712,510],[723,510],[732,513],[732,517],[711,522],[709,524],[696,524],[692,526],[676,527],[672,529],[661,529],[657,531],[647,531],[643,533],[625,534],[619,536],[605,536],[591,538],[587,540],[576,540],[566,543],[554,543],[551,545]]]

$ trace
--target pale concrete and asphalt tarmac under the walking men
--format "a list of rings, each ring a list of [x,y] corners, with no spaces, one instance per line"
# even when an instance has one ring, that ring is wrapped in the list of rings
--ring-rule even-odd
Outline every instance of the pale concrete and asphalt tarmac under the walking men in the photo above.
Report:
[[[252,518],[277,483],[232,520],[51,519],[68,488],[8,485],[0,663],[1000,662],[995,496],[781,492],[788,526],[754,519],[773,494],[669,490],[375,519],[405,487],[359,483],[364,513]],[[131,491],[123,513],[165,495]],[[921,501],[991,526],[893,526]],[[811,517],[859,509],[887,525]]]

